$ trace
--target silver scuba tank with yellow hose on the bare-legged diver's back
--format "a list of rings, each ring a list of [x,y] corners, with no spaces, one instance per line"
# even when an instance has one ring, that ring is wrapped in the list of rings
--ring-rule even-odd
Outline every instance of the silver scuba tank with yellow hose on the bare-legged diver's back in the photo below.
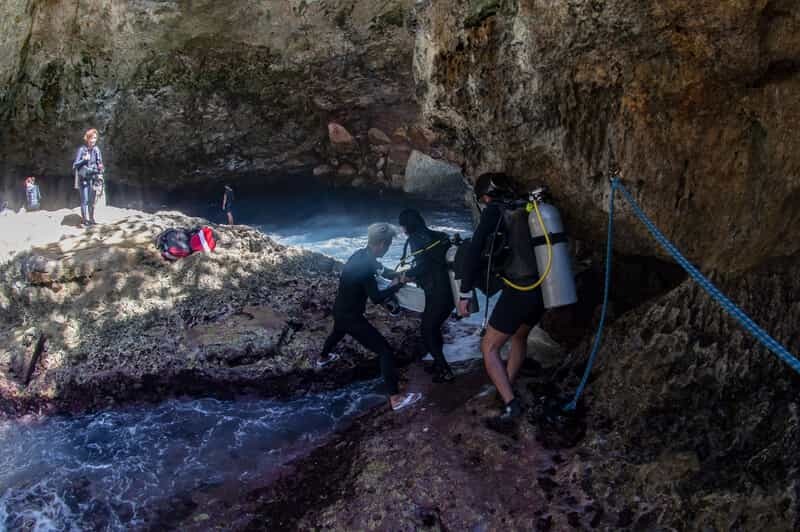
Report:
[[[545,308],[563,307],[578,301],[578,296],[575,293],[575,279],[572,276],[569,244],[558,209],[549,203],[544,203],[542,201],[543,195],[543,189],[534,190],[530,194],[530,200],[537,202],[539,207],[542,221],[550,236],[553,254],[550,273],[542,282],[542,296]],[[539,224],[535,210],[531,210],[528,214],[528,228],[531,232],[533,249],[536,254],[536,264],[541,275],[547,268],[548,251],[544,232]]]

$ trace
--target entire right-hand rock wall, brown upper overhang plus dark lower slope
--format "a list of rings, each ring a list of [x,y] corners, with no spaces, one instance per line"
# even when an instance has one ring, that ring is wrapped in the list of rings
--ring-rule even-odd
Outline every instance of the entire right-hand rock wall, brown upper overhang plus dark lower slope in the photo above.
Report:
[[[580,238],[605,240],[618,166],[667,236],[797,354],[798,29],[800,4],[783,0],[428,2],[416,91],[469,175],[544,182]],[[664,257],[618,201],[615,251]],[[692,281],[607,334],[572,471],[606,507],[641,505],[617,526],[797,529],[800,378]],[[565,361],[565,394],[590,347]]]

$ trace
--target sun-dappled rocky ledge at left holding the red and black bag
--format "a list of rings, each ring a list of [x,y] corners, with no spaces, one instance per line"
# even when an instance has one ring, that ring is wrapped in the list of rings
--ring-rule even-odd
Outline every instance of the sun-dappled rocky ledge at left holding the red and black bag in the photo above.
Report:
[[[350,340],[344,361],[313,367],[331,325],[335,260],[249,227],[211,225],[213,253],[171,263],[155,247],[158,234],[208,222],[177,212],[107,214],[112,221],[85,231],[56,231],[76,216],[69,211],[15,215],[39,216],[40,229],[49,217],[49,234],[62,239],[0,265],[3,414],[178,394],[286,396],[378,374],[373,355]],[[418,354],[413,320],[368,312],[401,363]]]

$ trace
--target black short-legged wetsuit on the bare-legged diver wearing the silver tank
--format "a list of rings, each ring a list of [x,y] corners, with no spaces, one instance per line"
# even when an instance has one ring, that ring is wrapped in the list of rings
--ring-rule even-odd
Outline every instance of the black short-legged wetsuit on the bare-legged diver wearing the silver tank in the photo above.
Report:
[[[478,270],[481,267],[481,254],[498,227],[508,232],[503,220],[503,208],[495,203],[489,203],[481,212],[481,219],[467,250],[464,261],[466,267],[461,279],[462,294],[470,292],[473,288],[482,289],[475,285],[480,273]],[[515,284],[528,285],[538,278],[539,273],[534,262],[527,275],[511,280]],[[489,325],[502,333],[514,334],[523,324],[530,327],[536,325],[541,320],[544,310],[541,288],[525,292],[504,285],[500,299],[489,317]]]

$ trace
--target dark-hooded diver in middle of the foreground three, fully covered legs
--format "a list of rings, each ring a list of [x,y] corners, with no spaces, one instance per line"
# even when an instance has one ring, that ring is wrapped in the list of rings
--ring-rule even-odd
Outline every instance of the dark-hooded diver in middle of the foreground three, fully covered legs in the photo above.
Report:
[[[433,382],[451,382],[455,376],[442,351],[442,325],[455,308],[446,259],[450,238],[446,233],[429,229],[422,215],[414,209],[401,212],[398,224],[408,235],[401,262],[406,259],[407,249],[411,250],[410,257],[414,260],[404,275],[425,291],[422,340],[434,360],[430,368]]]

